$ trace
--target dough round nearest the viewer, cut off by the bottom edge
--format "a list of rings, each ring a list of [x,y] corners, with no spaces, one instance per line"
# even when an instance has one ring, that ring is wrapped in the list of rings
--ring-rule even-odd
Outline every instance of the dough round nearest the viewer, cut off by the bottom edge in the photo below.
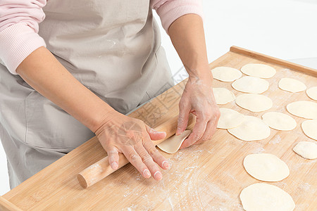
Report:
[[[290,194],[277,186],[256,183],[247,186],[240,193],[240,200],[247,211],[290,211],[295,203]]]

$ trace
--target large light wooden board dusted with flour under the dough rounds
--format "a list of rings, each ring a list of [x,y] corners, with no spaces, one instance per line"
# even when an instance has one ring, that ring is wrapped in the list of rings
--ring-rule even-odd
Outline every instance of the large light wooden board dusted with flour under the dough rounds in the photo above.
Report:
[[[305,92],[292,94],[278,89],[282,77],[293,77],[307,87],[317,86],[317,70],[305,68],[260,53],[233,46],[210,68],[228,66],[240,69],[247,63],[273,66],[277,74],[268,79],[270,88],[263,94],[273,100],[268,111],[287,113],[285,106],[292,101],[313,101]],[[178,101],[186,80],[133,112],[151,127],[178,115]],[[230,82],[214,80],[214,87],[225,87],[234,92]],[[261,117],[238,107],[234,102],[221,108],[232,108],[244,115]],[[264,112],[265,113],[265,112]],[[290,114],[289,114],[290,115]],[[291,115],[292,116],[292,115]],[[211,141],[182,149],[168,158],[171,168],[163,171],[163,180],[143,179],[128,164],[92,187],[82,188],[77,173],[106,156],[96,137],[27,179],[3,198],[6,203],[22,210],[242,210],[239,195],[243,188],[257,182],[244,170],[242,160],[250,153],[273,153],[290,168],[290,176],[279,182],[268,182],[290,193],[296,210],[316,210],[316,160],[306,160],[292,151],[299,141],[313,141],[304,135],[300,124],[303,118],[294,117],[296,129],[278,132],[262,141],[245,142],[236,139],[225,129],[218,129]],[[0,200],[3,201],[3,200]],[[7,205],[6,204],[6,205]]]

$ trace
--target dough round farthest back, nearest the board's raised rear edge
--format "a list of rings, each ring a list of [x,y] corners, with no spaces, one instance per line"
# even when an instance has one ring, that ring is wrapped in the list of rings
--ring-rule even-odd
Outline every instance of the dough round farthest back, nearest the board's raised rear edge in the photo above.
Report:
[[[245,75],[251,75],[261,78],[270,78],[275,75],[276,70],[268,65],[247,64],[241,68],[241,72],[243,72]]]

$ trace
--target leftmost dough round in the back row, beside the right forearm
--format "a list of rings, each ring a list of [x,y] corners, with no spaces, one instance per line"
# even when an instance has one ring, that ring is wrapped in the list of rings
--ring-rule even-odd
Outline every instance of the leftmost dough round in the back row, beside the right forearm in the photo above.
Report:
[[[218,79],[222,82],[233,82],[242,76],[240,70],[229,67],[218,67],[211,70],[214,79]]]

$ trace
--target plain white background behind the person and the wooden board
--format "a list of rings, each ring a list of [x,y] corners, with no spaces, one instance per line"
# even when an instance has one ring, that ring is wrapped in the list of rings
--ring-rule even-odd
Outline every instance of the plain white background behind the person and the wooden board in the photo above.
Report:
[[[317,68],[317,0],[203,0],[209,62],[240,46]],[[157,16],[156,16],[157,18]],[[170,68],[182,63],[162,29]],[[0,195],[9,190],[0,146]]]

